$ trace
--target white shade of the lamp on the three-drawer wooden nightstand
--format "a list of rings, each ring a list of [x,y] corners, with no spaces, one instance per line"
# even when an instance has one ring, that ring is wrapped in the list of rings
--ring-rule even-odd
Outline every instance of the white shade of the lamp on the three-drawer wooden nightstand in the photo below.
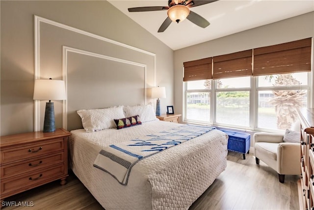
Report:
[[[35,80],[34,100],[66,100],[63,80]]]

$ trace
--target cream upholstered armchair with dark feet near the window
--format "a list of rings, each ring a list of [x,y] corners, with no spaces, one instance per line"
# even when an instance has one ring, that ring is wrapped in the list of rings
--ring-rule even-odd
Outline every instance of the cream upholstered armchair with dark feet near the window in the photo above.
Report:
[[[286,131],[292,132],[290,130]],[[296,131],[293,131],[296,132]],[[293,141],[284,141],[283,134],[255,133],[253,135],[256,164],[260,160],[274,169],[281,183],[285,182],[285,175],[301,174],[300,134],[294,133]],[[295,143],[291,143],[295,142]]]

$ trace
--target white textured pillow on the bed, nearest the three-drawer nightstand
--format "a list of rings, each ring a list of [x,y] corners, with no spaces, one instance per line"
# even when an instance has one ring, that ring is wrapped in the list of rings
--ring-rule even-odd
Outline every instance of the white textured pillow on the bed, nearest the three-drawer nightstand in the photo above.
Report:
[[[125,118],[123,106],[105,109],[78,110],[78,115],[82,119],[82,125],[86,132],[114,128],[116,124],[113,119]]]

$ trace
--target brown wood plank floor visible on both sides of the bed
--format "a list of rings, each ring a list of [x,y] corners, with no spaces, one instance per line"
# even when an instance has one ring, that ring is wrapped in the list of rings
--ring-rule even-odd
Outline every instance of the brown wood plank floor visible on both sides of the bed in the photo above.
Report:
[[[277,173],[262,161],[256,165],[252,154],[228,153],[226,170],[197,199],[189,210],[297,210],[299,176],[286,176],[280,183]],[[33,207],[7,206],[4,210],[103,210],[84,185],[70,174],[68,183],[54,181],[5,199],[27,202]]]

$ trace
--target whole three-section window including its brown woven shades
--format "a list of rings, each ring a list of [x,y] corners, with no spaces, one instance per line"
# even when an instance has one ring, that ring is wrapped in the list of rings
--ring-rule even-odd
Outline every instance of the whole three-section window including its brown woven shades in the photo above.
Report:
[[[312,37],[183,62],[184,120],[260,131],[290,128],[297,110],[312,100],[311,54]]]

